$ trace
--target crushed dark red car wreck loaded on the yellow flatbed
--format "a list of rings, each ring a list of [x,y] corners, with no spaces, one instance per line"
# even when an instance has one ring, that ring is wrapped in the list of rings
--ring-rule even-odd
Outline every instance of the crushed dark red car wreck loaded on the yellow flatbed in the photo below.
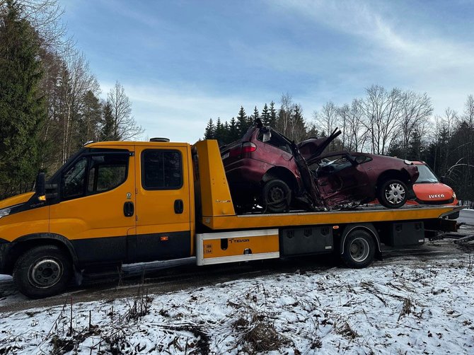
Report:
[[[347,151],[322,155],[339,134],[294,144],[255,120],[242,139],[221,147],[232,199],[239,212],[333,209],[376,197],[398,208],[415,197],[417,167],[408,161]]]

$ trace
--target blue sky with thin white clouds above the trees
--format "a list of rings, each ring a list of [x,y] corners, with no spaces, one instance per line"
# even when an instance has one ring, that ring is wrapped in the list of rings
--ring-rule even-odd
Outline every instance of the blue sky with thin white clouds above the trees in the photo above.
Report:
[[[289,93],[304,117],[377,83],[434,112],[474,93],[474,1],[62,0],[103,97],[119,81],[146,136],[193,143],[209,118]]]

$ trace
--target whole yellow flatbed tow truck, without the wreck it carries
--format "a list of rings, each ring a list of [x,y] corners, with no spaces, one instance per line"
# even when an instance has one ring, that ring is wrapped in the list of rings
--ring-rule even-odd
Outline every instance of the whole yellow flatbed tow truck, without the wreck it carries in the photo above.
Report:
[[[0,201],[0,273],[32,298],[86,270],[196,257],[198,265],[333,253],[369,265],[381,245],[456,233],[461,206],[236,214],[214,140],[86,144],[35,192]]]

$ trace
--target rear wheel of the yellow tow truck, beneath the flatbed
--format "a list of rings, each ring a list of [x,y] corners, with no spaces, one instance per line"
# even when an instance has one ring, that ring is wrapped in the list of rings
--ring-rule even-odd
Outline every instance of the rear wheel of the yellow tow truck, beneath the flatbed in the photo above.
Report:
[[[362,269],[374,261],[375,242],[372,235],[363,229],[349,232],[344,241],[342,260],[348,267]]]

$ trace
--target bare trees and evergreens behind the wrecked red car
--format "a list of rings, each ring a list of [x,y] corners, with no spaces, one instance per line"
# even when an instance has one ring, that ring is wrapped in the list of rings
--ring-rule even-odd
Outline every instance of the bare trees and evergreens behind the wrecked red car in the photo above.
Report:
[[[241,106],[238,115],[222,122],[207,122],[204,139],[229,144],[240,139],[255,118],[299,142],[311,136],[327,136],[336,127],[342,134],[328,151],[360,151],[425,161],[439,177],[445,176],[458,198],[474,201],[474,96],[468,95],[463,112],[446,108],[444,115],[433,114],[427,93],[366,88],[362,98],[336,105],[329,101],[308,120],[291,95],[282,95],[275,108],[265,104],[251,115]]]

